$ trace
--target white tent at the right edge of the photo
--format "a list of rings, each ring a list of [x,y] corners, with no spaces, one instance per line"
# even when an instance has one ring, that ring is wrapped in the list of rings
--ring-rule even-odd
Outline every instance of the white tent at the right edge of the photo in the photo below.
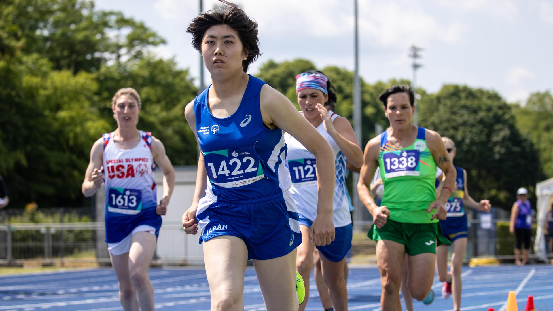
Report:
[[[538,230],[536,230],[534,252],[539,258],[545,262],[549,262],[545,254],[544,220],[546,219],[549,207],[553,203],[553,178],[536,184],[536,196],[538,196],[538,203],[536,206],[536,210],[538,211],[536,217],[538,221]]]

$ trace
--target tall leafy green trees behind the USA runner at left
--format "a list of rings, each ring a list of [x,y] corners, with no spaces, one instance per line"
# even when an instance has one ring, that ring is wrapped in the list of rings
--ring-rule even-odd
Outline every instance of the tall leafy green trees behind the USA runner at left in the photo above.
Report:
[[[148,52],[164,43],[143,23],[91,1],[0,2],[0,174],[11,207],[79,206],[90,148],[115,121],[111,98],[132,86],[139,127],[174,164],[196,162],[183,117],[196,94],[187,70]]]

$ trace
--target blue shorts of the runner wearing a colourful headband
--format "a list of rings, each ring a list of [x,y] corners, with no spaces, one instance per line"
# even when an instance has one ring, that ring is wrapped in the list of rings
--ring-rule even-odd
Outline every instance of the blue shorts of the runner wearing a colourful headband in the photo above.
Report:
[[[311,227],[313,222],[304,216],[300,215],[300,225]],[[326,259],[332,262],[340,262],[346,257],[347,252],[351,248],[351,239],[353,237],[353,226],[349,224],[343,227],[334,228],[335,239],[329,245],[316,246],[317,250],[325,256]]]

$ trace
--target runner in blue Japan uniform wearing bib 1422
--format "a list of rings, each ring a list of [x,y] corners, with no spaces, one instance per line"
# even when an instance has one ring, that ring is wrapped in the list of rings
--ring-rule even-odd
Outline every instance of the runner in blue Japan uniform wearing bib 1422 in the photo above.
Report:
[[[212,310],[243,310],[244,269],[252,259],[267,310],[298,310],[298,210],[290,194],[282,131],[315,155],[319,203],[309,238],[334,240],[332,149],[286,97],[248,75],[259,56],[257,23],[235,4],[201,13],[187,32],[212,85],[185,108],[201,150],[196,189],[182,215],[204,243]]]

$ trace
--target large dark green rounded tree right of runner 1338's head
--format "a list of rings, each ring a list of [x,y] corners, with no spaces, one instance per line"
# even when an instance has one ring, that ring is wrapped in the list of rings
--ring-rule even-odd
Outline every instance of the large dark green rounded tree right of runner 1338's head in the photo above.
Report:
[[[539,180],[534,144],[519,132],[512,106],[497,92],[444,85],[419,103],[421,126],[455,142],[455,164],[467,170],[474,198],[508,208],[517,188]]]

